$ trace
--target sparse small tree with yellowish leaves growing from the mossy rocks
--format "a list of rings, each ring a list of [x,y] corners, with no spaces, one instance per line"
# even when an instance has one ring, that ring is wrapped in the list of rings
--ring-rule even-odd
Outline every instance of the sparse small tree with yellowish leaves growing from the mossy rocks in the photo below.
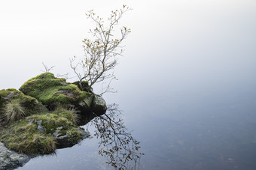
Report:
[[[91,19],[96,25],[96,28],[90,29],[90,34],[93,37],[83,40],[84,58],[76,64],[75,56],[70,60],[70,66],[78,76],[81,90],[88,91],[95,83],[108,80],[104,93],[109,90],[111,80],[116,79],[114,67],[117,65],[117,57],[123,53],[123,46],[120,46],[120,44],[131,31],[130,28],[123,26],[120,28],[120,36],[118,37],[114,35],[117,33],[114,28],[127,10],[131,10],[131,8],[126,5],[123,5],[120,10],[112,10],[106,21],[97,16],[93,10],[86,14],[87,18]],[[82,73],[78,71],[78,67],[82,68]],[[88,84],[85,85],[82,83],[83,81],[87,81]]]

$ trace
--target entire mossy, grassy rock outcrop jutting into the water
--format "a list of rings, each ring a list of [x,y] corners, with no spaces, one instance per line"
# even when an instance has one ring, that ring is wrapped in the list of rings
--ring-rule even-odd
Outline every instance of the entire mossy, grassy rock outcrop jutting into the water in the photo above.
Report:
[[[0,91],[0,169],[14,169],[32,155],[51,154],[90,136],[79,126],[104,114],[107,106],[93,89],[78,85],[42,73],[20,91]]]

